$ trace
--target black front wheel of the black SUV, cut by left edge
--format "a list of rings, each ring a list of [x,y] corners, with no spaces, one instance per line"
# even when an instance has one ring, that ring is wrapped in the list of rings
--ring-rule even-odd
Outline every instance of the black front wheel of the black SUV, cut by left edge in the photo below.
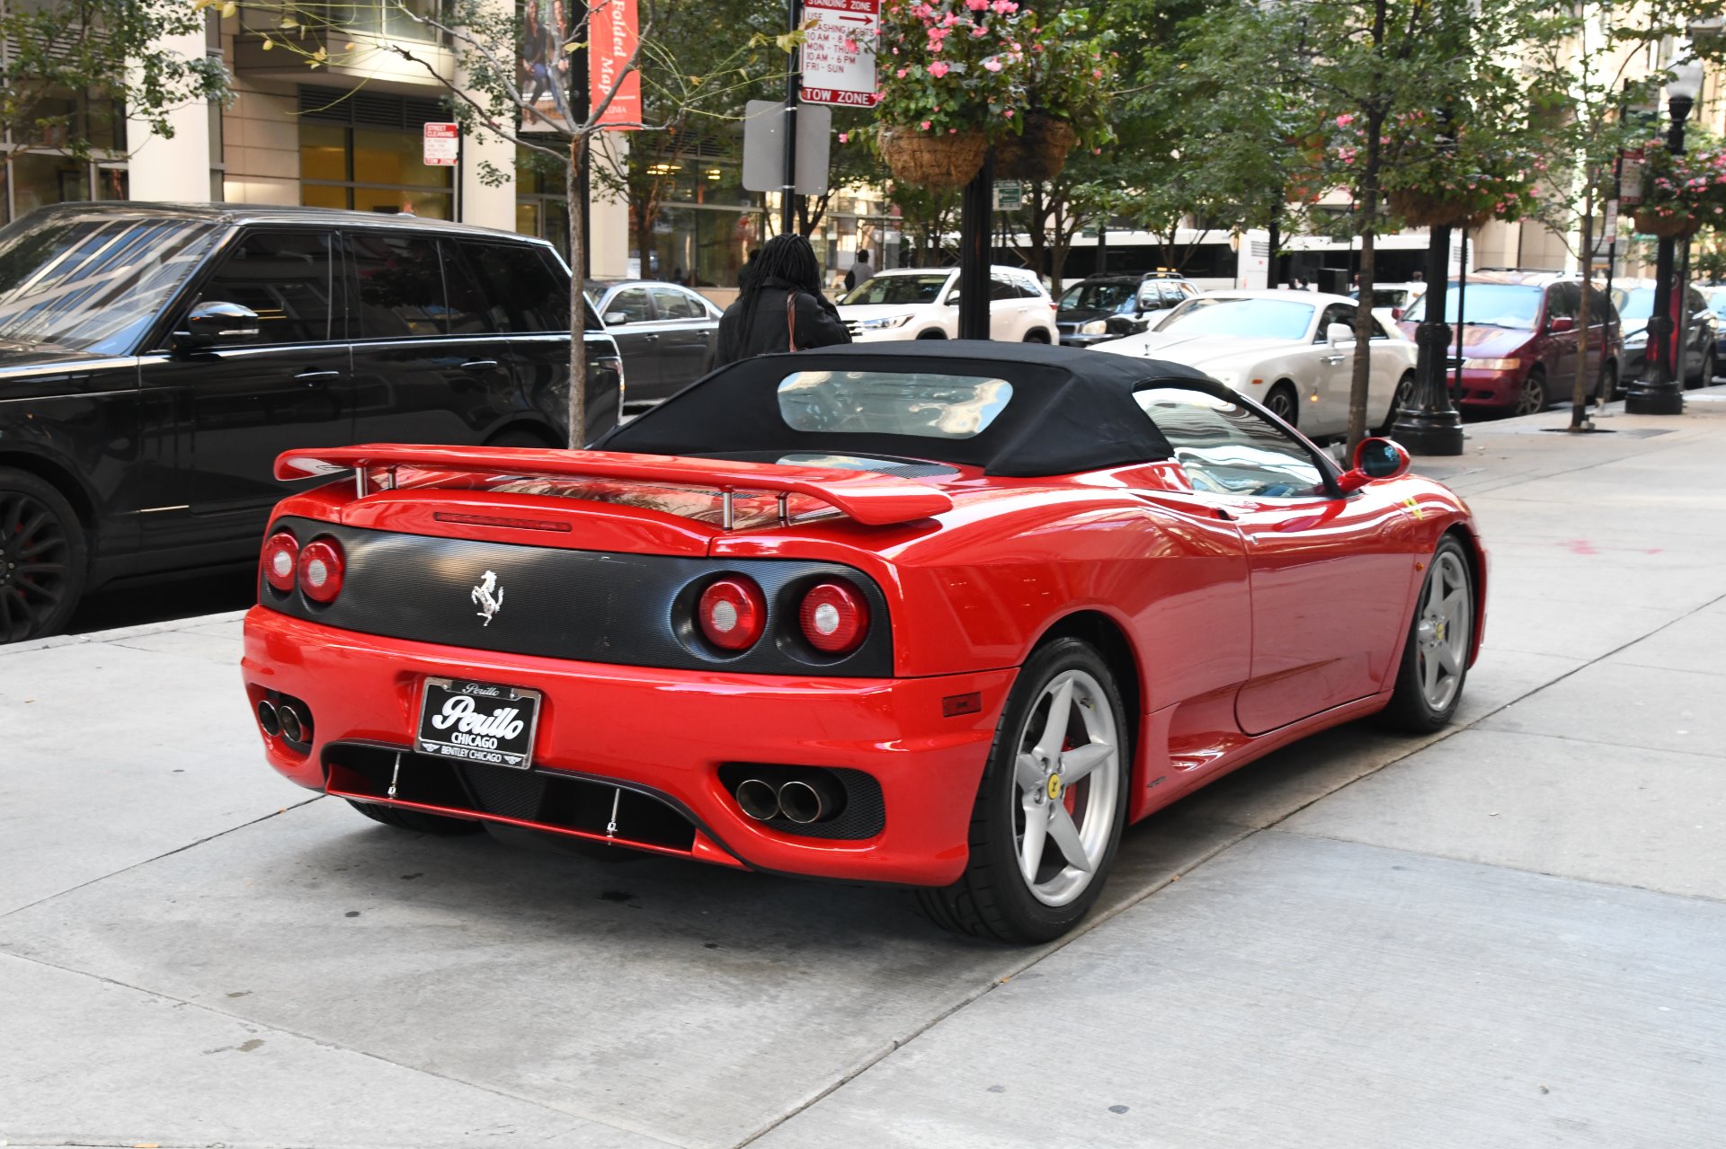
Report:
[[[59,633],[85,593],[88,542],[47,480],[0,468],[0,644]]]

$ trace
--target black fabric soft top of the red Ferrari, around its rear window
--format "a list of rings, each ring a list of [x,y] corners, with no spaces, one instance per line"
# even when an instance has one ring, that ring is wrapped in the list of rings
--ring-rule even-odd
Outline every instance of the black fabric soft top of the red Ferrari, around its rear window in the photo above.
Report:
[[[778,385],[801,371],[887,371],[1006,380],[1013,399],[972,438],[794,431]],[[1169,459],[1174,450],[1134,392],[1177,383],[1239,397],[1177,362],[1077,347],[917,340],[759,355],[721,367],[594,443],[649,455],[739,457],[763,452],[854,452],[934,459],[986,474],[1036,478]]]

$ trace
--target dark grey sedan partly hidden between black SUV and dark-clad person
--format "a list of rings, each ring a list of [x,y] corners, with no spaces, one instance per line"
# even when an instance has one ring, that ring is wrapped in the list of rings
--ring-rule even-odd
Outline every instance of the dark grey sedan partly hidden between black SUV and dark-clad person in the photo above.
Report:
[[[720,309],[704,295],[654,279],[592,281],[587,298],[623,352],[628,402],[658,402],[713,371]]]

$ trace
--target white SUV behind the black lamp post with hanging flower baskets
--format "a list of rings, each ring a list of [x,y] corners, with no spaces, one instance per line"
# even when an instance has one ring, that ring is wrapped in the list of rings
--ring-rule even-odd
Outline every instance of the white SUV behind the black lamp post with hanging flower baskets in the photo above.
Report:
[[[858,343],[958,338],[960,269],[877,271],[839,297],[839,317]],[[1024,267],[989,269],[989,338],[1055,342],[1055,300]]]

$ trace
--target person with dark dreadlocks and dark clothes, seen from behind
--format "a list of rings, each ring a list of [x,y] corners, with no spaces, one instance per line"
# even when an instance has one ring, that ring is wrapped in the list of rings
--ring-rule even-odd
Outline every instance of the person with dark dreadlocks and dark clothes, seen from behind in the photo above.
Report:
[[[822,295],[815,248],[801,235],[777,235],[749,261],[737,302],[720,319],[713,366],[849,342],[839,309]]]

